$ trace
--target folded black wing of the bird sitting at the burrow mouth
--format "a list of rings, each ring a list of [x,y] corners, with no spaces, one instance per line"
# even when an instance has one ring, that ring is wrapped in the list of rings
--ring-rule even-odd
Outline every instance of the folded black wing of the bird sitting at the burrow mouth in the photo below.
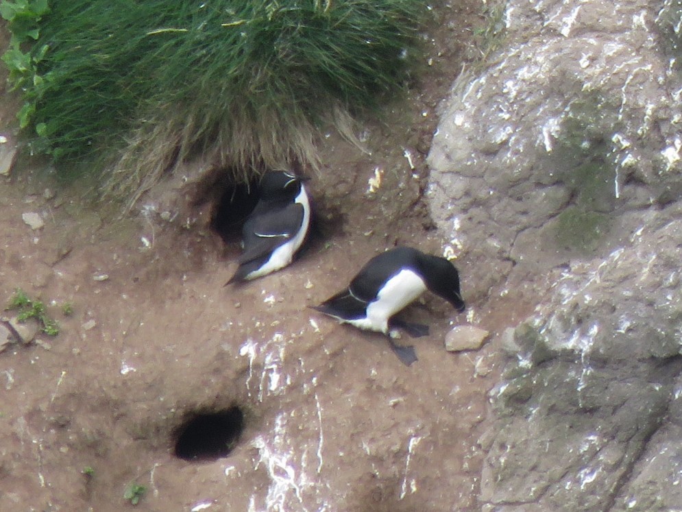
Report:
[[[242,230],[244,252],[239,256],[240,265],[265,258],[277,247],[293,239],[301,228],[303,217],[304,208],[296,203],[250,217]]]

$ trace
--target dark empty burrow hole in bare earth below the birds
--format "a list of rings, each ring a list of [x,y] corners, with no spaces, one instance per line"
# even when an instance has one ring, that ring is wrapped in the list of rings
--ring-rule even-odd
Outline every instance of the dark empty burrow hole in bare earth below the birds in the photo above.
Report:
[[[213,461],[226,457],[244,430],[244,413],[237,406],[193,415],[175,435],[175,456],[185,461]]]

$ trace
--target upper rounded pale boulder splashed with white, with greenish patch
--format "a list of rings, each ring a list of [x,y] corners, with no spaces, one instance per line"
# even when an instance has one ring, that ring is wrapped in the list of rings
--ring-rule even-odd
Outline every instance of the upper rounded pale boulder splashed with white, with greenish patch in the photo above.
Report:
[[[641,0],[509,1],[506,49],[461,75],[428,156],[437,225],[464,260],[500,261],[497,275],[468,269],[474,296],[504,282],[505,262],[608,254],[677,199],[682,82],[661,40],[679,36],[662,17]]]

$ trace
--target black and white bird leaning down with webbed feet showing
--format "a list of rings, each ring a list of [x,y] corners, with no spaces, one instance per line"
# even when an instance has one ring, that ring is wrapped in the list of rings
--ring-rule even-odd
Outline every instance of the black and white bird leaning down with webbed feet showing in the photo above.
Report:
[[[450,261],[411,247],[396,247],[369,260],[348,288],[313,309],[363,330],[389,334],[391,326],[402,326],[409,334],[423,335],[428,327],[392,317],[426,290],[443,297],[459,312],[465,308],[459,273]],[[390,337],[389,341],[400,361],[408,366],[417,361],[414,347],[399,347]]]

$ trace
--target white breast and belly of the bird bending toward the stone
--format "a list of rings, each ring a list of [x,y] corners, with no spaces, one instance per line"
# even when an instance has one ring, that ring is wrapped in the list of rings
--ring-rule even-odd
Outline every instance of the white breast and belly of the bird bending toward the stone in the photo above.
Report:
[[[351,320],[348,323],[357,328],[387,334],[389,318],[413,302],[424,291],[426,291],[426,285],[417,273],[412,270],[401,270],[386,282],[376,300],[369,303],[366,317]]]

